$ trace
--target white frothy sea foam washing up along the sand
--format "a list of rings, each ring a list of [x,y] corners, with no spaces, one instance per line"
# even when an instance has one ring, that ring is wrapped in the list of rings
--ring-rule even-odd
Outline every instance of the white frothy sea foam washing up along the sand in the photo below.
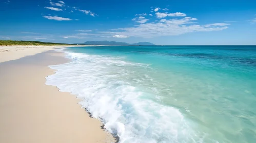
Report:
[[[153,80],[140,72],[150,65],[126,62],[125,57],[66,53],[72,61],[50,66],[56,71],[46,84],[82,99],[82,107],[119,142],[204,142],[178,109],[148,98],[159,99],[154,95],[157,89],[143,84]],[[138,77],[134,80],[131,75]]]

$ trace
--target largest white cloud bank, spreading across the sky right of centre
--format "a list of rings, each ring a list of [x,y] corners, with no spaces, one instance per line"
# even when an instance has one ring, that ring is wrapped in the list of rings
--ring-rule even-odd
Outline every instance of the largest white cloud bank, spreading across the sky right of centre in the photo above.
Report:
[[[157,12],[159,13],[159,12]],[[165,15],[161,15],[165,14]],[[176,13],[161,13],[156,14],[157,18],[160,17],[181,17],[186,14],[181,12]],[[144,16],[136,17],[132,20],[139,21],[145,19]],[[171,19],[160,19],[154,22],[141,22],[140,25],[127,28],[117,28],[104,32],[104,34],[113,35],[127,35],[128,37],[144,37],[152,38],[157,36],[174,36],[181,35],[190,32],[209,32],[209,31],[221,31],[227,29],[229,23],[210,23],[207,25],[196,24],[197,18],[183,17],[183,18],[171,18]]]

